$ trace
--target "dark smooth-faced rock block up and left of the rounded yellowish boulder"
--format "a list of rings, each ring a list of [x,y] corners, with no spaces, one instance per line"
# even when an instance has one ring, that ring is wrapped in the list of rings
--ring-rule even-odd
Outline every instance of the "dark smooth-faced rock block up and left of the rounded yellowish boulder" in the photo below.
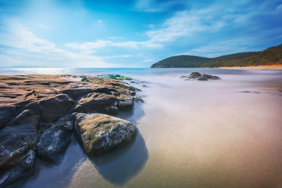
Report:
[[[43,103],[40,121],[53,122],[68,111],[74,104],[74,100],[66,94],[59,94],[43,98],[40,103]]]

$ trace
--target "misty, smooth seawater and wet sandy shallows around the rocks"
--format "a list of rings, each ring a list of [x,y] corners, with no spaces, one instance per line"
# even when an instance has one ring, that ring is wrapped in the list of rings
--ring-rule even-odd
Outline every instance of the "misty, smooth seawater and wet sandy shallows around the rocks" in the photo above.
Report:
[[[192,71],[221,80],[185,81]],[[87,156],[73,139],[58,164],[37,160],[30,187],[281,187],[282,70],[0,69],[0,74],[120,74],[144,103],[117,117],[135,140]],[[245,92],[247,91],[247,92]]]

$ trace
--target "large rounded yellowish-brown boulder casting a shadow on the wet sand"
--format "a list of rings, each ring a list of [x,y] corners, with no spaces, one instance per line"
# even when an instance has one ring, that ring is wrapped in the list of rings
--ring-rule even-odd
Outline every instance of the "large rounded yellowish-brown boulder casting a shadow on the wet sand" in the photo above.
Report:
[[[129,121],[106,114],[76,114],[74,135],[87,154],[102,154],[123,145],[137,133]]]

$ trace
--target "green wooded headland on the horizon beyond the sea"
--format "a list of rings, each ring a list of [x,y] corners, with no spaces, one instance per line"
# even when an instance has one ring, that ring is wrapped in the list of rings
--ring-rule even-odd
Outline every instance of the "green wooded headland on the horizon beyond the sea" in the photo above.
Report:
[[[151,68],[243,67],[257,65],[282,65],[282,44],[259,52],[243,52],[214,58],[176,55],[153,64]]]

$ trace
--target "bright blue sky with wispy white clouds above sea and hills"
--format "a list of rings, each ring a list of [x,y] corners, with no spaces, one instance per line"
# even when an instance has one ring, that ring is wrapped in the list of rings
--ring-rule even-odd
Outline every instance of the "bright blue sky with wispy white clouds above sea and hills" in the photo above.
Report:
[[[0,66],[150,67],[282,43],[282,0],[0,0]]]

